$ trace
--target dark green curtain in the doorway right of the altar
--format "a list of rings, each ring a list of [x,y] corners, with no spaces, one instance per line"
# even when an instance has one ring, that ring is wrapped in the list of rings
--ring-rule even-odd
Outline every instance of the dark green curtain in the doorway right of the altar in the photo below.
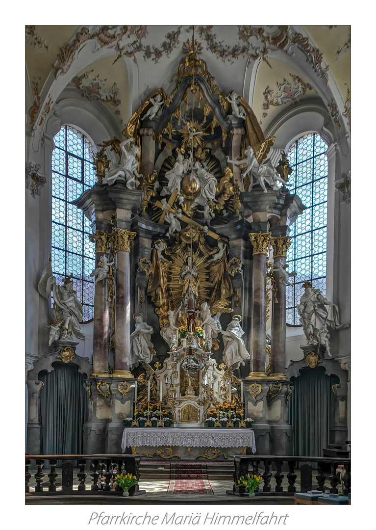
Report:
[[[333,443],[330,439],[335,406],[332,385],[339,383],[339,378],[326,375],[323,366],[299,371],[299,377],[291,377],[294,386],[290,398],[293,454],[323,456],[323,448]]]

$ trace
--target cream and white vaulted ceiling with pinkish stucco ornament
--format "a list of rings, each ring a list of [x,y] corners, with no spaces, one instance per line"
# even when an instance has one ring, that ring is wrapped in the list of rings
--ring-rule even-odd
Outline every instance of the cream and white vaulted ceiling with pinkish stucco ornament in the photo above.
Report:
[[[26,26],[26,117],[42,137],[67,90],[104,105],[122,130],[142,101],[171,92],[192,26]],[[238,92],[265,131],[287,106],[319,98],[350,132],[350,26],[195,26],[220,91]]]

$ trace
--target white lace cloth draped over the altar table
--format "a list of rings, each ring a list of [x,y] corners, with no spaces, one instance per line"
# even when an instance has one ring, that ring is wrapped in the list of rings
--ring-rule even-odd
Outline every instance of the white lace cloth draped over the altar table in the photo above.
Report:
[[[181,429],[131,427],[124,429],[121,440],[123,453],[126,447],[250,447],[256,453],[255,434],[250,429]]]

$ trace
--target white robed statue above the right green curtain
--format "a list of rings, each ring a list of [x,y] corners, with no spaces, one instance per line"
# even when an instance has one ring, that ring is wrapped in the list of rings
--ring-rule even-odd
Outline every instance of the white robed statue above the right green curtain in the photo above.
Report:
[[[331,357],[328,326],[342,330],[348,328],[350,324],[341,324],[338,307],[333,302],[329,302],[319,289],[312,287],[311,282],[306,281],[303,287],[306,290],[300,298],[298,313],[307,342],[312,345],[325,346]],[[326,308],[327,305],[329,306],[328,309]]]

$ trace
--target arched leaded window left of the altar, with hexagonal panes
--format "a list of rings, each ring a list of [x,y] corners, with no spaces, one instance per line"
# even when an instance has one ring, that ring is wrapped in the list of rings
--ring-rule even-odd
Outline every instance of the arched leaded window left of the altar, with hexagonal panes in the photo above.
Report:
[[[53,139],[52,153],[52,271],[58,284],[73,273],[84,322],[93,318],[95,248],[88,235],[91,222],[71,201],[96,182],[91,145],[78,130],[63,126]]]

